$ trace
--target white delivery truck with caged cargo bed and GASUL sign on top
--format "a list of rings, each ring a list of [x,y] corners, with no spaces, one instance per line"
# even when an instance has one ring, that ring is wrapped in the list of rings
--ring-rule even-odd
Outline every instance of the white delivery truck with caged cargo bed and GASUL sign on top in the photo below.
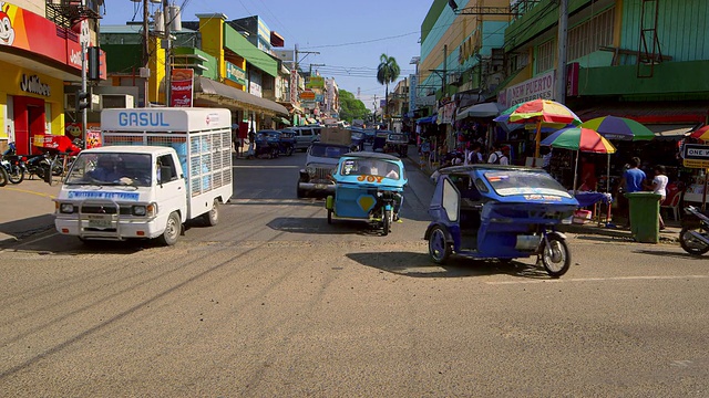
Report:
[[[171,245],[189,219],[218,222],[233,192],[228,109],[104,109],[101,133],[103,146],[79,154],[54,199],[60,233]]]

